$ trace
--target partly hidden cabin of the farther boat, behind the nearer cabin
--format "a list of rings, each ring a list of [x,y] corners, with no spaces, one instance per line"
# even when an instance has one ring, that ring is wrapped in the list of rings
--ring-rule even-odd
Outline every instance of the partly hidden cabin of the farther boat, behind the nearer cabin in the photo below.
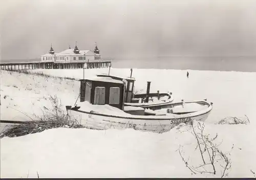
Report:
[[[110,76],[108,74],[99,74],[96,75],[97,77],[110,77],[115,80],[124,81],[125,89],[124,89],[124,102],[125,103],[131,103],[134,95],[134,81],[135,78],[127,77],[127,78],[121,78],[117,76]]]

